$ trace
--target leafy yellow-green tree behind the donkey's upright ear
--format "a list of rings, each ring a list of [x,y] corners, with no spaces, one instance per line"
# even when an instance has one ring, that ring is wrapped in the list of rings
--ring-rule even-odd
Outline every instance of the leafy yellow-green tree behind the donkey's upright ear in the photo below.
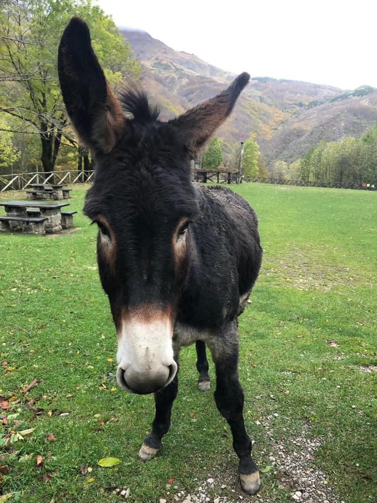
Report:
[[[138,71],[112,18],[90,0],[10,0],[3,4],[0,112],[17,119],[13,131],[39,136],[40,160],[46,172],[53,171],[62,144],[78,147],[57,77],[59,39],[72,16],[88,23],[93,48],[111,85]]]

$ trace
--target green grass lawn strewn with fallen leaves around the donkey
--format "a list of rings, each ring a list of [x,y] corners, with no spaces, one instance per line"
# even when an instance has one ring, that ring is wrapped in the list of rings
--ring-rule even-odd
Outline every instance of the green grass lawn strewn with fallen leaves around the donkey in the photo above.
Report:
[[[274,442],[288,452],[295,450],[290,439],[303,431],[321,439],[308,466],[327,475],[339,501],[376,501],[377,194],[252,183],[232,188],[256,210],[264,249],[239,323],[245,423],[265,471],[262,498],[254,500],[291,498],[278,484],[279,472],[268,471],[272,440],[256,424],[271,416]],[[10,398],[1,412],[8,431],[34,429],[3,450],[0,494],[15,493],[10,502],[105,503],[122,500],[116,489],[126,486],[127,501],[170,500],[170,477],[171,490],[190,492],[196,478],[233,473],[231,435],[213,389],[197,388],[191,347],[181,352],[163,450],[149,463],[137,460],[153,396],[127,394],[114,381],[115,328],[98,278],[97,230],[81,211],[84,193],[73,187],[68,209],[78,213],[70,233],[0,234],[0,394]],[[212,363],[210,372],[214,382]],[[38,455],[44,459],[36,469]],[[107,456],[121,463],[100,467]],[[92,470],[81,474],[81,463]]]

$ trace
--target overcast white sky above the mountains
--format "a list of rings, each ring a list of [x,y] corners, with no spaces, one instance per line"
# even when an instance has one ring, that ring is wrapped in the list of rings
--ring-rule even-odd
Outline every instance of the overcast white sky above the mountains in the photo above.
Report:
[[[225,70],[343,89],[377,87],[375,0],[99,0],[118,26],[147,31]]]

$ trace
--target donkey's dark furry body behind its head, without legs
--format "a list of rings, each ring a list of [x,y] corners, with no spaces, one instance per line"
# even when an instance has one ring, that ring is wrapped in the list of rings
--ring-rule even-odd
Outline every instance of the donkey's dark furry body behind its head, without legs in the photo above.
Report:
[[[240,314],[258,276],[262,248],[254,210],[232,190],[197,187],[201,217],[193,224],[193,256],[181,312],[199,330],[221,328]]]

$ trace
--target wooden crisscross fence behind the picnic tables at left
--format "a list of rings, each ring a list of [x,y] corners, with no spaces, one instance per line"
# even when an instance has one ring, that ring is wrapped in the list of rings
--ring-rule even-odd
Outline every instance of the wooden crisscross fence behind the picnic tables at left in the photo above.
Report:
[[[51,171],[49,173],[19,173],[0,175],[0,192],[23,190],[30,184],[85,184],[94,181],[94,170],[90,171]]]

